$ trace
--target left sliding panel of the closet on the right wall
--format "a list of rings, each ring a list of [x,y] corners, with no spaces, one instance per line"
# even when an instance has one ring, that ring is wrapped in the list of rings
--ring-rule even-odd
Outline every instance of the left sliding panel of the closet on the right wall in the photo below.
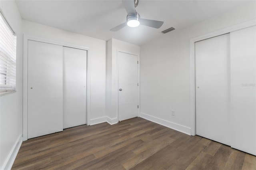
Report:
[[[230,146],[230,34],[195,43],[196,134]]]

